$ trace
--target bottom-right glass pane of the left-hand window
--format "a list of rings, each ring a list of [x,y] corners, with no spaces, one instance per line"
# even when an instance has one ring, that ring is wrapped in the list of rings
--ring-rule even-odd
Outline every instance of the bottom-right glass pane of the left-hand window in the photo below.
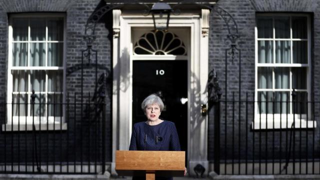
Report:
[[[48,94],[48,115],[60,116],[62,112],[62,95]]]

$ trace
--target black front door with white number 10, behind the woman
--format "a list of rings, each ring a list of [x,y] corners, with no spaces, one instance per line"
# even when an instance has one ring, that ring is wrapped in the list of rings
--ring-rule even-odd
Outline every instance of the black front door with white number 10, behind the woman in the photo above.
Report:
[[[145,121],[142,100],[151,93],[161,97],[160,118],[175,123],[181,150],[187,148],[187,60],[133,61],[132,122]]]

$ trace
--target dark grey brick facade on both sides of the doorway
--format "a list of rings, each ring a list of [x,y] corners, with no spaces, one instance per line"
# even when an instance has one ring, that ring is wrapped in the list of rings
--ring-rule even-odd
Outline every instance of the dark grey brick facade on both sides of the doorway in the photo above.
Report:
[[[318,33],[318,29],[320,26],[320,14],[319,14],[319,6],[320,0],[219,0],[217,5],[227,10],[235,19],[239,34],[241,35],[237,41],[237,48],[241,49],[241,61],[234,60],[230,61],[230,56],[225,59],[225,50],[229,46],[226,42],[227,29],[225,26],[225,22],[219,17],[219,15],[214,12],[214,10],[210,14],[210,31],[209,31],[209,70],[215,69],[218,73],[218,77],[220,79],[220,86],[222,87],[222,99],[227,97],[227,99],[232,99],[232,95],[234,92],[235,99],[239,96],[239,70],[241,70],[241,96],[245,94],[245,92],[249,92],[252,99],[252,93],[254,91],[254,25],[255,25],[255,13],[256,12],[307,12],[313,14],[312,18],[312,96],[314,100],[320,100],[320,82],[318,79],[320,77],[320,63],[318,62],[318,58],[320,57],[320,33]],[[98,6],[103,5],[103,1],[100,0],[1,0],[0,1],[0,88],[6,89],[6,74],[7,74],[7,25],[8,25],[8,13],[16,13],[16,12],[65,12],[67,14],[66,18],[66,33],[67,33],[67,43],[66,43],[66,68],[71,69],[72,67],[76,67],[81,63],[81,50],[86,49],[85,41],[83,40],[83,32],[84,26],[87,18],[92,13],[92,11]],[[107,152],[107,160],[111,160],[111,81],[110,78],[112,76],[111,73],[111,21],[112,15],[108,13],[104,16],[100,22],[97,23],[96,26],[96,40],[93,43],[92,48],[97,50],[98,52],[98,64],[99,64],[99,73],[106,69],[108,71],[108,79],[109,83],[107,83],[107,96],[106,96],[106,152]],[[237,54],[239,55],[239,54]],[[94,59],[94,58],[93,58]],[[91,60],[90,63],[93,61]],[[227,79],[225,86],[225,63],[227,63]],[[239,64],[241,64],[241,68],[239,68]],[[83,70],[83,92],[93,92],[94,91],[94,67],[85,68]],[[72,73],[67,73],[66,76],[66,90],[67,92],[72,92],[70,96],[73,96],[74,93],[79,94],[81,92],[81,71],[76,70]],[[225,89],[227,92],[225,93]],[[90,94],[92,95],[92,94]],[[85,96],[87,97],[87,95]],[[4,95],[0,96],[0,102],[4,102]],[[222,104],[222,112],[224,112],[224,104]],[[237,127],[240,125],[241,129],[245,129],[249,127],[251,121],[246,122],[245,116],[243,114],[239,115],[240,111],[245,110],[245,107],[238,107],[238,104],[235,104],[234,108],[234,119],[232,122],[233,114],[232,106],[227,106],[227,115],[228,119],[226,122],[224,113],[221,114],[221,155],[223,156],[223,152],[227,153],[227,156],[230,157],[232,154],[232,146],[230,144],[223,144],[224,138],[226,135],[226,140],[228,142],[231,141],[232,132],[234,132],[235,136],[235,146],[234,149],[238,149],[237,142],[241,138],[243,138],[244,131],[240,131],[240,136],[238,136]],[[315,107],[319,109],[319,106]],[[252,106],[249,107],[252,109]],[[76,114],[79,114],[79,111],[76,111]],[[5,116],[5,108],[0,108],[0,115]],[[249,116],[252,116],[252,110],[249,111]],[[319,114],[316,114],[316,120],[319,122],[318,118]],[[208,158],[209,160],[213,157],[213,122],[214,122],[214,111],[210,109],[209,111],[209,130],[208,130]],[[240,116],[240,118],[239,118]],[[240,122],[239,120],[240,119]],[[68,120],[69,124],[72,124],[76,120],[75,129],[85,128],[86,126],[80,126],[79,119],[76,117],[70,117]],[[1,118],[0,123],[4,123],[5,119]],[[85,125],[89,125],[90,122],[85,122]],[[234,124],[234,126],[233,126]],[[318,123],[319,124],[319,123]],[[226,125],[227,131],[224,132],[224,127]],[[234,130],[233,130],[234,127]],[[74,130],[70,127],[71,131]],[[319,129],[319,128],[317,128]],[[283,130],[281,132],[282,139],[286,138],[287,131]],[[77,132],[78,133],[78,132]],[[306,135],[306,132],[302,132],[302,135]],[[309,132],[310,133],[310,132]],[[1,151],[3,146],[3,132],[0,131],[0,154],[3,154]],[[263,139],[266,143],[263,143],[261,146],[262,152],[264,156],[270,157],[269,155],[272,153],[268,153],[273,143],[272,137],[278,137],[280,135],[280,131],[275,131],[273,133],[266,134],[265,132],[256,131],[254,132],[255,136],[253,137],[252,131],[248,132],[248,146],[256,146],[256,142],[259,141],[259,135],[261,135],[261,139]],[[259,134],[259,135],[258,135]],[[316,137],[315,140],[319,140],[319,131],[315,131]],[[55,138],[53,133],[49,133],[49,138]],[[72,134],[70,134],[72,135]],[[299,136],[299,133],[296,134]],[[308,134],[309,135],[309,134]],[[58,135],[57,135],[58,136]],[[10,138],[17,138],[17,133],[13,133],[11,136],[6,134],[7,141]],[[27,134],[25,138],[31,142],[32,136]],[[63,136],[64,138],[64,136]],[[253,140],[254,139],[254,140]],[[276,138],[275,140],[275,148],[279,148],[279,141]],[[45,138],[42,139],[45,141]],[[65,142],[65,141],[64,141]],[[92,143],[92,142],[91,142]],[[297,142],[299,143],[299,142]],[[269,144],[269,145],[268,145]],[[87,147],[87,146],[86,146]],[[284,147],[284,146],[282,146]],[[266,149],[266,151],[265,151]],[[317,145],[315,147],[316,150],[319,149]],[[237,158],[239,156],[243,156],[245,152],[248,152],[248,155],[253,155],[253,149],[249,149],[246,151],[245,147],[240,146],[240,154],[235,150],[234,157]],[[258,148],[255,148],[254,154],[258,154]],[[87,151],[86,151],[87,152]],[[84,153],[86,153],[84,152]],[[8,153],[8,152],[7,152]],[[29,152],[28,152],[29,153]],[[22,158],[22,157],[21,157]],[[58,154],[56,158],[59,158]]]

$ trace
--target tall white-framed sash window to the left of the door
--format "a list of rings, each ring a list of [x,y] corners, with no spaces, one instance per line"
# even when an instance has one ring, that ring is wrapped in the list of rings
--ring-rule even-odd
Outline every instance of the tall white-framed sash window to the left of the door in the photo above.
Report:
[[[64,24],[63,15],[10,16],[7,124],[62,122]]]

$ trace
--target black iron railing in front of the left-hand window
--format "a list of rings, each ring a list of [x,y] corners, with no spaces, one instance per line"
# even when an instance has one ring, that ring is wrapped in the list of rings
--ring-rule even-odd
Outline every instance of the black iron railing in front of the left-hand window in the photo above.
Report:
[[[104,94],[24,95],[0,104],[0,173],[105,171]]]

